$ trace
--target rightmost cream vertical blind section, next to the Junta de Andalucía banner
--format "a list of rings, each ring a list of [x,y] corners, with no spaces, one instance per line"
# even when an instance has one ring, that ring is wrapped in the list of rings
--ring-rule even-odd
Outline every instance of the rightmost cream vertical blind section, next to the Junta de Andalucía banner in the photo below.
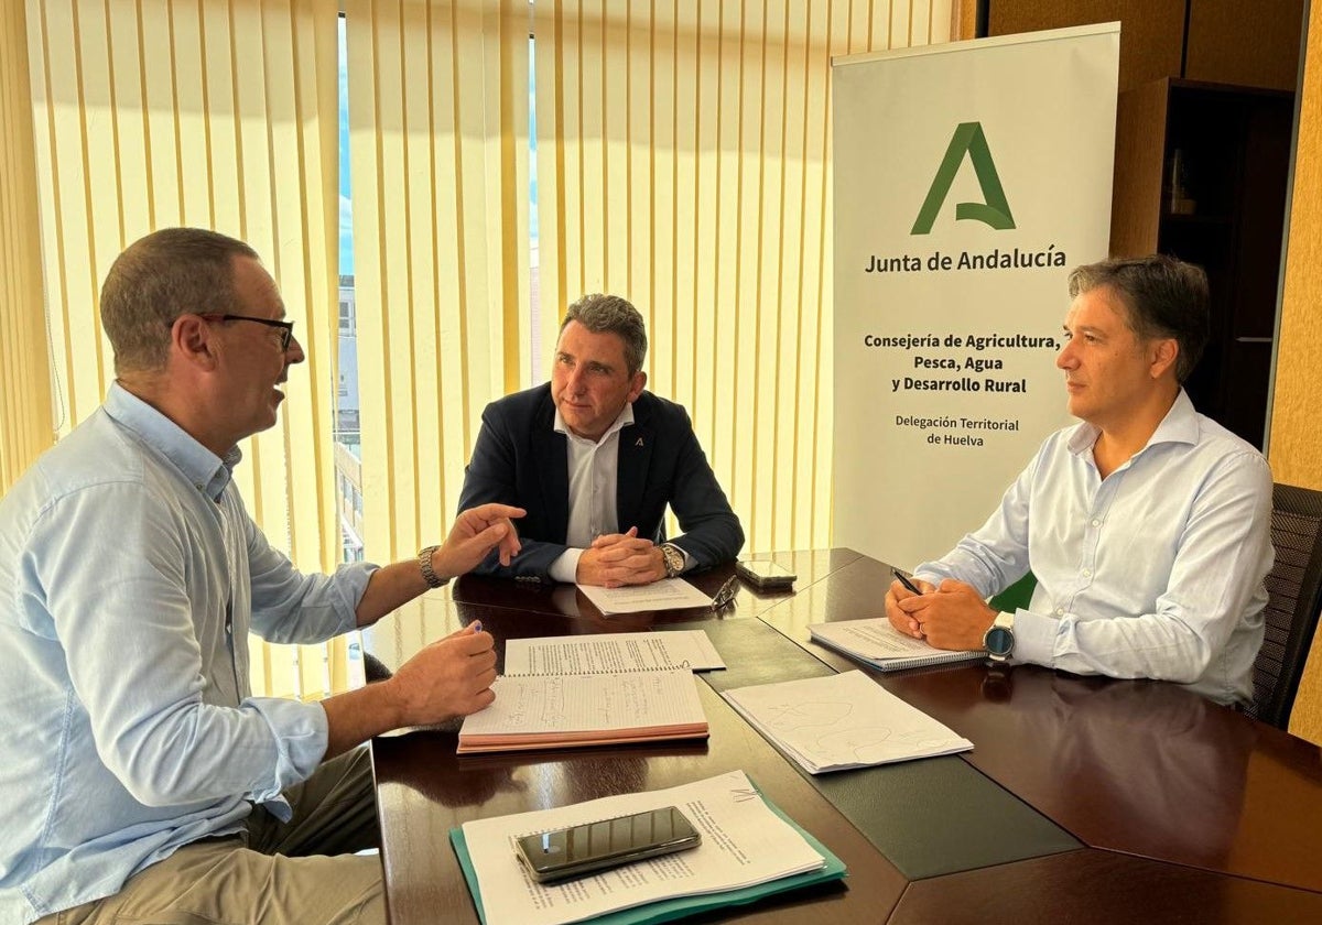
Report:
[[[947,41],[951,3],[534,8],[543,313],[629,297],[748,548],[829,544],[830,58]]]

